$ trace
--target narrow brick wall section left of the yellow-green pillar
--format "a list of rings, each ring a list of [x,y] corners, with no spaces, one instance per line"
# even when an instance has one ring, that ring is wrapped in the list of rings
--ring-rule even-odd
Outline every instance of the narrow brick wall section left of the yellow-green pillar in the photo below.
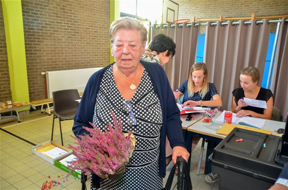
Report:
[[[2,4],[0,2],[0,102],[11,100]]]

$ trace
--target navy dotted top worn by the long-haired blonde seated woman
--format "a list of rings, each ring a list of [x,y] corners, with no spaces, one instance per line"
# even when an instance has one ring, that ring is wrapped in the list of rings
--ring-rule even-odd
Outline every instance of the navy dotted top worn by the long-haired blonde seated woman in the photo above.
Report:
[[[208,83],[208,92],[206,95],[202,98],[199,94],[199,92],[194,93],[194,95],[191,97],[188,95],[188,80],[186,80],[179,88],[178,90],[184,94],[183,102],[184,103],[188,100],[193,100],[193,101],[209,101],[213,98],[215,94],[218,94],[217,89],[213,83]]]

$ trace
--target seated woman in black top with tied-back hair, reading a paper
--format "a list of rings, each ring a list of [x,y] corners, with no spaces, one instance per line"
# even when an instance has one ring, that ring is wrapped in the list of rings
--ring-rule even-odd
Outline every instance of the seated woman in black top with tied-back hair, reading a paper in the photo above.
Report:
[[[233,94],[231,111],[236,113],[236,117],[251,116],[270,120],[273,109],[273,94],[271,90],[257,86],[260,80],[260,72],[255,67],[246,67],[240,72],[241,88],[235,89]],[[243,98],[254,100],[264,100],[267,109],[249,106]]]

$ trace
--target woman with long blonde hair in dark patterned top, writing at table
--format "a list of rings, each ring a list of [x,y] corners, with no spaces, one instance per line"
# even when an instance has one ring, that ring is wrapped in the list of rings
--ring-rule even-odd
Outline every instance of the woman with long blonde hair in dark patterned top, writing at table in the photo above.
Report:
[[[197,62],[190,69],[189,79],[186,80],[176,91],[175,98],[183,97],[183,107],[185,106],[205,106],[217,107],[222,106],[222,100],[213,83],[208,82],[208,69],[203,62]],[[193,137],[192,150],[198,144],[200,138]],[[205,181],[213,183],[218,180],[218,174],[210,173],[206,176]]]

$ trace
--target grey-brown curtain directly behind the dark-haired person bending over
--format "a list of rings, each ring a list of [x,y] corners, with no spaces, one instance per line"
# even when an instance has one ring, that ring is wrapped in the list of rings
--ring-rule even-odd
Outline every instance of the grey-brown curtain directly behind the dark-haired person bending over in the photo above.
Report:
[[[172,89],[177,89],[189,75],[189,70],[196,59],[196,47],[198,37],[198,26],[163,27],[154,26],[152,38],[159,33],[163,33],[173,39],[176,43],[176,54],[173,59],[164,65],[168,80]]]

